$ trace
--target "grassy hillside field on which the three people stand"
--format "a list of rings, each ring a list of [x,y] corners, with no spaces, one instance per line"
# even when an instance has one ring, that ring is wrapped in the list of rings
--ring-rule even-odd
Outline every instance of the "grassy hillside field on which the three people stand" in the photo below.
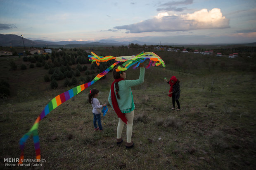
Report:
[[[139,53],[140,50],[132,54]],[[130,55],[131,51],[98,50],[102,55]],[[100,90],[100,103],[107,102],[113,78],[85,89],[53,110],[39,124],[41,167],[30,169],[150,169],[150,170],[254,170],[256,168],[256,62],[194,54],[155,52],[166,69],[146,69],[145,82],[133,87],[135,118],[133,149],[116,145],[118,119],[109,106],[102,116],[103,132],[94,132],[91,88]],[[17,64],[23,61],[14,57]],[[33,68],[11,71],[1,58],[1,78],[8,80],[11,97],[0,106],[1,161],[19,158],[19,139],[31,128],[45,105],[70,88],[50,89],[43,76],[47,70]],[[224,64],[223,64],[224,63]],[[83,74],[81,74],[83,75]],[[171,110],[170,86],[164,81],[180,80],[181,110]],[[129,69],[127,79],[136,79],[139,69]],[[62,82],[58,82],[59,85]],[[108,102],[107,102],[108,103]],[[126,127],[123,128],[126,139]],[[32,138],[25,145],[25,159],[35,159]],[[21,167],[20,169],[27,169]]]

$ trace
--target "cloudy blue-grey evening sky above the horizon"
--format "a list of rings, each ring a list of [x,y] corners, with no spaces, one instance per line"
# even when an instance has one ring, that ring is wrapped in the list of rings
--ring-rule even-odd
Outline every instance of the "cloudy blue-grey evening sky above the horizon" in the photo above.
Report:
[[[47,41],[256,42],[256,0],[0,0],[0,34]]]

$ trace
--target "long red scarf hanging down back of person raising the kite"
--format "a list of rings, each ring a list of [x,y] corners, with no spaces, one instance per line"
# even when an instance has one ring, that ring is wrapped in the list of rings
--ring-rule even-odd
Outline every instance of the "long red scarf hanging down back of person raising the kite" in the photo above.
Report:
[[[127,124],[127,119],[126,119],[126,115],[124,113],[121,112],[117,100],[116,100],[116,94],[115,94],[115,90],[114,90],[114,84],[118,83],[119,81],[124,80],[123,78],[118,78],[115,79],[114,82],[111,84],[111,101],[112,101],[112,105],[113,108],[116,112],[116,115]]]

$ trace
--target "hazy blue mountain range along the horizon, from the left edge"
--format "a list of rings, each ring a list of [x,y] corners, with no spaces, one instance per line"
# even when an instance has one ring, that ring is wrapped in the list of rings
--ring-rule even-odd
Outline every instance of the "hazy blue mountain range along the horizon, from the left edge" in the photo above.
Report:
[[[62,47],[62,46],[127,46],[129,44],[144,45],[148,43],[141,41],[113,41],[102,39],[100,41],[43,41],[43,40],[30,40],[15,34],[0,34],[0,46],[26,46],[26,47]],[[150,44],[156,45],[156,44]]]

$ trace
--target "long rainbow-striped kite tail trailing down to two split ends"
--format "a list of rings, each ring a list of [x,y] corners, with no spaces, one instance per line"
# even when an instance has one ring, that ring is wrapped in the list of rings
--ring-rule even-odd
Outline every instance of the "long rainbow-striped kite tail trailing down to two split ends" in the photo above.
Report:
[[[121,61],[117,61],[114,64],[112,64],[109,68],[104,70],[102,73],[98,74],[91,82],[85,83],[83,85],[79,85],[74,87],[73,89],[66,91],[62,94],[59,94],[55,98],[53,98],[44,108],[44,110],[41,112],[41,114],[37,117],[36,121],[34,122],[32,128],[26,133],[22,138],[19,140],[19,147],[21,149],[21,156],[19,158],[19,164],[22,164],[24,161],[24,148],[25,148],[25,143],[28,140],[28,138],[33,135],[33,142],[34,142],[34,147],[36,150],[36,159],[39,161],[41,159],[41,154],[40,154],[40,145],[39,145],[39,136],[38,136],[38,126],[40,120],[42,120],[47,114],[50,113],[50,111],[54,110],[57,108],[59,105],[64,103],[65,101],[71,99],[73,96],[76,94],[80,93],[81,91],[85,90],[87,87],[95,83],[97,80],[105,76],[111,69],[116,66],[116,64],[119,64]]]

